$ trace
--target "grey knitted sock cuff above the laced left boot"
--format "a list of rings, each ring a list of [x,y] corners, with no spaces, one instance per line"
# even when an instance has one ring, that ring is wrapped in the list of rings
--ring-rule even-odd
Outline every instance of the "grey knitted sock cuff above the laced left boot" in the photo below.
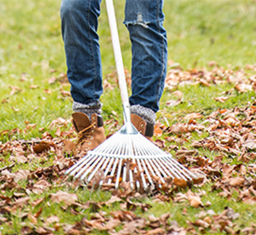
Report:
[[[88,118],[91,120],[91,115],[93,113],[97,113],[100,115],[102,113],[102,103],[100,101],[92,101],[88,103],[87,105],[84,103],[79,103],[76,101],[73,101],[73,111],[75,112],[81,112],[88,115]]]

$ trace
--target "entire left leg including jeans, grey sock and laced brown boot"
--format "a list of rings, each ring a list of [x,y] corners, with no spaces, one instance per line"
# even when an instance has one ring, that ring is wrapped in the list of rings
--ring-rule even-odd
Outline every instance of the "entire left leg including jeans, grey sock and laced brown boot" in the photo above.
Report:
[[[72,122],[78,134],[76,156],[84,156],[105,140],[99,101],[102,94],[97,34],[100,2],[63,0],[61,3],[61,30],[73,97]]]

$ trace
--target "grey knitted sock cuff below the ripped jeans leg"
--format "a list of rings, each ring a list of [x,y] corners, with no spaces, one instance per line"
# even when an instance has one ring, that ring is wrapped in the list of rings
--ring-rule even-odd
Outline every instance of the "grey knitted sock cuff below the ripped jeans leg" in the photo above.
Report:
[[[156,113],[148,107],[131,105],[131,113],[138,115],[149,124],[154,125],[156,123]]]

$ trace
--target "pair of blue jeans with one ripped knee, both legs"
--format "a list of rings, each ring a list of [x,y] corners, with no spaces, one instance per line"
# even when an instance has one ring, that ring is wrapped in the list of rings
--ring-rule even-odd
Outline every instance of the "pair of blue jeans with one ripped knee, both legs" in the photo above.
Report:
[[[163,28],[164,0],[127,0],[125,26],[132,50],[131,105],[154,112],[164,89],[167,39]],[[63,0],[61,29],[67,58],[71,95],[78,103],[99,102],[102,94],[102,66],[97,34],[101,0]]]

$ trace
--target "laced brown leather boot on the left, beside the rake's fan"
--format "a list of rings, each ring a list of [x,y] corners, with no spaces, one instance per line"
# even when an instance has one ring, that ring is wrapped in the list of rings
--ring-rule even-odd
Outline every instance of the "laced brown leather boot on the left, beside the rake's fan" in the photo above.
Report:
[[[92,114],[91,120],[85,113],[75,112],[72,114],[72,123],[78,134],[77,155],[85,155],[106,140],[101,115]]]

